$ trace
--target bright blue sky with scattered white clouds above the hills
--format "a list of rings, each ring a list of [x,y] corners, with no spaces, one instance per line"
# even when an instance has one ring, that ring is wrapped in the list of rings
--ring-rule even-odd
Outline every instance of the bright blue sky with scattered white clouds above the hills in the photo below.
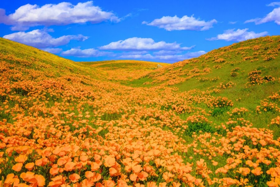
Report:
[[[279,35],[273,1],[2,1],[0,36],[75,61],[174,63]]]

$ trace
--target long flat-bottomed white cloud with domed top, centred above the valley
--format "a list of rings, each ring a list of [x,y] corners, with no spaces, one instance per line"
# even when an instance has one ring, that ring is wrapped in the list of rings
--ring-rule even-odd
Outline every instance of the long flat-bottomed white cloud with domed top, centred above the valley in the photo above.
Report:
[[[108,45],[101,46],[101,50],[189,50],[191,47],[180,47],[176,42],[166,43],[165,41],[155,42],[152,38],[128,38],[111,42]]]

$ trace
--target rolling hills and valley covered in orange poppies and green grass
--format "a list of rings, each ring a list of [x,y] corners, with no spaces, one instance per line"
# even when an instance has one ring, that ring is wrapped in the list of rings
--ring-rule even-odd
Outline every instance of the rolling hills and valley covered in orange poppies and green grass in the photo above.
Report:
[[[156,69],[0,38],[0,186],[278,187],[279,53],[266,36]]]

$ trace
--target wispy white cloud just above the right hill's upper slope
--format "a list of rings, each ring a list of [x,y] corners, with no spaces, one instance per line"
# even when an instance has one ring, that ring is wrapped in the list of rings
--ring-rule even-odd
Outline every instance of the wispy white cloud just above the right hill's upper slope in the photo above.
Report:
[[[248,32],[248,29],[229,29],[224,31],[223,34],[218,34],[217,37],[212,37],[207,40],[225,40],[225,41],[244,41],[252,38],[268,35],[268,32],[255,33],[254,31]]]

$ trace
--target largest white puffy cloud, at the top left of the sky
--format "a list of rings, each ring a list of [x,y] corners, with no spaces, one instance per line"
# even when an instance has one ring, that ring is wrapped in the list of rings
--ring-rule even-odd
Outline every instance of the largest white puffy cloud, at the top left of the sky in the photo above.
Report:
[[[120,19],[112,12],[102,11],[94,6],[92,1],[79,2],[73,5],[70,2],[58,4],[38,5],[26,4],[12,14],[6,15],[0,9],[0,23],[12,25],[12,30],[25,31],[32,26],[68,25],[73,23],[100,23],[103,21],[119,22]]]

